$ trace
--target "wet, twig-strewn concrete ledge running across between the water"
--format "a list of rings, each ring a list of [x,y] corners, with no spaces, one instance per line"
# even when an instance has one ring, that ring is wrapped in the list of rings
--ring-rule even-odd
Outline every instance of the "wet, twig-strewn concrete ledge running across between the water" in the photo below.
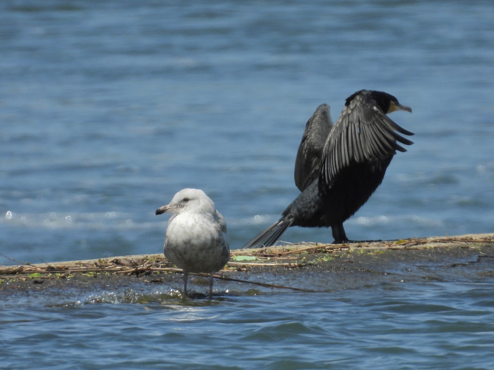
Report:
[[[297,243],[237,249],[231,256],[215,276],[222,280],[215,287],[222,292],[233,289],[236,294],[250,294],[251,284],[257,285],[255,292],[285,288],[332,292],[396,282],[494,279],[492,233],[371,243]],[[182,284],[177,273],[181,270],[163,254],[0,266],[0,291],[58,295],[64,289],[71,296],[122,287],[149,291],[158,283],[177,292]]]

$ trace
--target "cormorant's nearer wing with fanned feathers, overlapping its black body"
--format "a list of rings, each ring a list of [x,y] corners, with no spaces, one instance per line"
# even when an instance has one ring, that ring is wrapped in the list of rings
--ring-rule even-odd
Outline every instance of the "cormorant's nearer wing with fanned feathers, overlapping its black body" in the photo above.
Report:
[[[389,158],[396,150],[407,151],[396,142],[413,143],[395,131],[413,135],[393,122],[372,99],[357,95],[348,102],[324,146],[320,190],[330,187],[341,171],[352,163]]]

